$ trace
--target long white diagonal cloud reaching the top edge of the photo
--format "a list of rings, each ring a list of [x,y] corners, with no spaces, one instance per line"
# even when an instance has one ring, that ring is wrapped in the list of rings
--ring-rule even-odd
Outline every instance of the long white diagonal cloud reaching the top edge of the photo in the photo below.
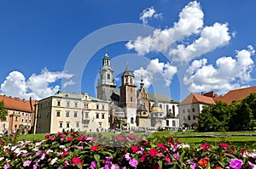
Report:
[[[130,50],[136,50],[137,54],[147,54],[157,50],[165,52],[174,42],[199,33],[203,26],[203,17],[200,3],[190,2],[180,12],[179,20],[173,27],[164,30],[156,29],[152,35],[137,37],[136,41],[129,41],[125,46]]]

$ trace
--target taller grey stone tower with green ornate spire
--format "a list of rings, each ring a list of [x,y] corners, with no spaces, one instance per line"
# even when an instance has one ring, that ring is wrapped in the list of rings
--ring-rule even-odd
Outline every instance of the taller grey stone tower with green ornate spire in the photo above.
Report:
[[[113,69],[110,64],[108,50],[102,59],[102,68],[99,71],[99,79],[97,82],[97,98],[102,100],[111,100],[110,96],[115,89],[116,84],[113,78]]]

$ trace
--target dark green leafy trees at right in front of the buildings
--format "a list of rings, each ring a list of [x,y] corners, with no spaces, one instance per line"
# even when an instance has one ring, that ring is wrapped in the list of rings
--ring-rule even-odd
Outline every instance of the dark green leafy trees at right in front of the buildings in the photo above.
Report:
[[[198,122],[201,132],[251,130],[256,127],[256,93],[236,101],[236,104],[218,101],[206,105]]]

